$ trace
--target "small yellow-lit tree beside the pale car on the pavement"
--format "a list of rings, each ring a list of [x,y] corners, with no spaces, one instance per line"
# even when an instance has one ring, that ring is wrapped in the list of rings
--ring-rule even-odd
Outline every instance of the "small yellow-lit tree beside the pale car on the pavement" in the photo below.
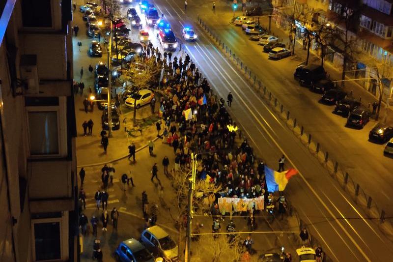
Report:
[[[135,56],[131,68],[120,76],[126,83],[126,89],[138,93],[140,89],[151,87],[160,76],[161,64],[157,63],[154,56],[143,58]],[[131,84],[131,85],[129,85]],[[137,96],[134,96],[134,125],[137,117]]]

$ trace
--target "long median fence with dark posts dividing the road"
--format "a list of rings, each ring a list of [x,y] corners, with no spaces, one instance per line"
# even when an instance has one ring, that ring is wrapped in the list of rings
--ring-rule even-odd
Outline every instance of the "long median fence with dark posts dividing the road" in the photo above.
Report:
[[[197,19],[197,25],[210,37],[213,43],[219,47],[219,50],[226,55],[228,60],[239,69],[257,94],[281,117],[286,123],[287,128],[290,129],[302,144],[309,149],[318,159],[319,163],[328,170],[329,174],[336,179],[340,187],[349,193],[355,203],[363,208],[368,219],[377,221],[381,231],[390,239],[393,239],[391,219],[386,216],[385,210],[375,203],[371,195],[351,177],[349,172],[346,171],[345,166],[338,162],[331,152],[325,151],[322,148],[321,144],[313,138],[312,134],[307,132],[307,127],[300,123],[296,116],[290,113],[289,109],[274,96],[272,91],[250,70],[247,64],[245,64],[241,58],[220,39],[217,33],[211,30],[199,17]]]

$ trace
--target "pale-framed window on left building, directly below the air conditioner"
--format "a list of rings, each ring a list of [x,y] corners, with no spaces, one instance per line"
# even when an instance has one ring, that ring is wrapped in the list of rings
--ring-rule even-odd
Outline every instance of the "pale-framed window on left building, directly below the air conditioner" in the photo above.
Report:
[[[26,102],[30,157],[62,157],[67,155],[66,101],[56,103],[37,98]]]

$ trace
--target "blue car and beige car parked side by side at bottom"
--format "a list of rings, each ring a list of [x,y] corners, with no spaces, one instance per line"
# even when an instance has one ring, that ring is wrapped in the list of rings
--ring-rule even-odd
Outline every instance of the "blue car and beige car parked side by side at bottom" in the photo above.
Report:
[[[152,226],[141,233],[140,240],[130,238],[122,241],[114,257],[119,262],[154,262],[154,258],[158,257],[176,262],[177,244],[164,229]]]

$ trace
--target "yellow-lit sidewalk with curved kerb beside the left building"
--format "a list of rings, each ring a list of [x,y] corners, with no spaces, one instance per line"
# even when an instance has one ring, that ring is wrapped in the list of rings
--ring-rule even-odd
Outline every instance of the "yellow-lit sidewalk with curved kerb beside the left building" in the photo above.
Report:
[[[77,159],[78,159],[78,167],[88,166],[88,165],[103,165],[104,163],[109,163],[113,161],[117,161],[121,158],[124,158],[128,155],[128,145],[131,142],[134,142],[137,149],[142,148],[147,145],[149,140],[156,138],[156,127],[154,123],[150,126],[146,126],[143,129],[143,135],[132,136],[129,135],[125,131],[125,127],[127,129],[131,129],[131,123],[133,119],[133,113],[130,112],[127,115],[120,116],[120,129],[113,130],[112,138],[109,139],[109,146],[107,149],[107,153],[104,152],[103,147],[101,146],[101,136],[100,132],[102,130],[101,127],[101,116],[103,114],[102,110],[99,110],[97,106],[94,106],[93,112],[89,111],[88,113],[84,112],[83,100],[84,98],[89,97],[89,87],[94,90],[94,73],[90,74],[88,71],[88,66],[91,64],[95,69],[95,65],[99,61],[107,62],[107,53],[105,48],[102,58],[90,58],[87,55],[88,47],[90,42],[93,40],[89,38],[85,34],[85,24],[82,20],[82,13],[77,11],[74,15],[74,23],[73,25],[78,25],[80,28],[78,37],[73,37],[73,46],[74,46],[74,79],[77,82],[81,80],[84,82],[84,92],[83,94],[79,93],[75,95],[75,115],[76,115],[76,125],[77,125],[77,134],[78,137],[76,139],[76,149],[77,149]],[[97,39],[95,39],[97,40]],[[81,51],[78,50],[78,42],[82,42]],[[101,44],[103,47],[103,39],[101,39]],[[84,74],[81,79],[80,71],[81,68],[84,69]],[[158,112],[158,103],[156,103],[156,111]],[[137,111],[137,120],[143,119],[145,117],[150,116],[150,107],[145,106],[140,108]],[[88,121],[91,119],[94,123],[92,136],[83,136],[83,128],[82,123],[84,120]],[[124,122],[126,120],[126,122]],[[94,153],[93,153],[94,152]]]

